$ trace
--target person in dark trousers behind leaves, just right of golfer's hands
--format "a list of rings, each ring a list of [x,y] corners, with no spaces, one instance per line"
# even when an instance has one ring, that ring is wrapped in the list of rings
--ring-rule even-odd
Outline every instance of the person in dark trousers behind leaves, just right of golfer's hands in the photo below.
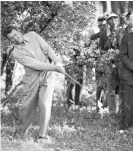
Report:
[[[74,48],[73,51],[75,54],[71,57],[73,60],[72,66],[69,67],[68,73],[79,82],[81,85],[83,84],[83,65],[78,62],[78,57],[80,56],[80,50],[78,47]],[[81,105],[81,86],[75,83],[70,78],[67,79],[67,105],[68,107],[71,104]],[[75,94],[72,95],[72,90],[75,88]]]

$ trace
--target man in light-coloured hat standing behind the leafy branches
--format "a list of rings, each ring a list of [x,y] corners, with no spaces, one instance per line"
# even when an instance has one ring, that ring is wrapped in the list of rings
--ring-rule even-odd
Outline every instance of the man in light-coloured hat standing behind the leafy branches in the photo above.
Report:
[[[104,33],[104,38],[107,41],[104,44],[104,50],[114,49],[119,50],[121,39],[124,34],[124,29],[119,27],[119,17],[114,14],[110,13],[107,16],[107,24],[108,28],[106,31],[106,35]],[[120,61],[117,57],[111,60],[110,62],[110,71],[107,75],[108,83],[107,83],[107,105],[109,108],[110,114],[116,113],[116,94],[119,94],[119,66]]]

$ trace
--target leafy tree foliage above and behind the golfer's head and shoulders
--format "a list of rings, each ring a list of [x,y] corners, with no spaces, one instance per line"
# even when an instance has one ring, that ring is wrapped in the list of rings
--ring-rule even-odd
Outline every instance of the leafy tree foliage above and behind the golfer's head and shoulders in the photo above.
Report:
[[[96,4],[97,2],[89,1],[2,2],[2,33],[9,24],[18,26],[23,33],[34,30],[62,56],[65,64],[69,64],[72,61],[73,48],[78,46],[81,50],[84,47],[85,37],[82,32],[94,24]],[[10,45],[7,43],[6,46],[5,41],[2,34],[4,54]]]

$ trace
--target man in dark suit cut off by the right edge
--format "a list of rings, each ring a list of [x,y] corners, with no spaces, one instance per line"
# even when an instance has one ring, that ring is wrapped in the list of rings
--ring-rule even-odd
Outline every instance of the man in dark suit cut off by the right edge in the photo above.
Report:
[[[129,12],[126,17],[130,32],[122,39],[119,55],[122,62],[120,72],[121,129],[133,125],[133,12]]]

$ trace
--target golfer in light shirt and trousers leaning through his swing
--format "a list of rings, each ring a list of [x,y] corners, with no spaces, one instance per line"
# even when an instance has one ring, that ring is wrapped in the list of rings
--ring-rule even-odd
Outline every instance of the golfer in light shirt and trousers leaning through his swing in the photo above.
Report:
[[[37,140],[47,140],[54,90],[54,72],[65,73],[59,58],[51,46],[37,33],[23,35],[16,27],[8,26],[5,37],[13,44],[12,56],[25,68],[23,77],[23,99],[19,112],[23,133],[30,126],[37,105],[40,111],[39,135]],[[48,57],[55,63],[50,64]]]

